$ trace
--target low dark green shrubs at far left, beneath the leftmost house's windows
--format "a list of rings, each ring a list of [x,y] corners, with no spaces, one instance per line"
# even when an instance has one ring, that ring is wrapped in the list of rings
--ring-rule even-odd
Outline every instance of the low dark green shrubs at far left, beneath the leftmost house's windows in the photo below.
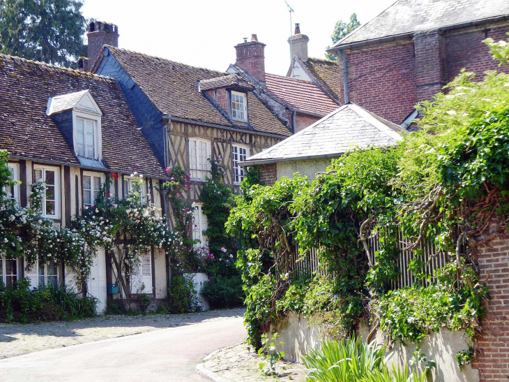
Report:
[[[29,289],[28,279],[13,286],[0,281],[0,322],[68,320],[96,315],[94,297],[77,297],[67,286],[52,285]]]

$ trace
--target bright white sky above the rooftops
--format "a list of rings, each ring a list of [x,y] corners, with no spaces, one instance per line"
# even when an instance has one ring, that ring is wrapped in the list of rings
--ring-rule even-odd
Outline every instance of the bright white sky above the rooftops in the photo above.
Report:
[[[324,58],[337,20],[357,13],[368,22],[395,0],[287,0],[292,22],[310,38],[310,57]],[[119,27],[119,47],[226,71],[234,45],[257,34],[266,43],[265,70],[286,75],[290,63],[290,18],[284,0],[84,0],[85,17]]]

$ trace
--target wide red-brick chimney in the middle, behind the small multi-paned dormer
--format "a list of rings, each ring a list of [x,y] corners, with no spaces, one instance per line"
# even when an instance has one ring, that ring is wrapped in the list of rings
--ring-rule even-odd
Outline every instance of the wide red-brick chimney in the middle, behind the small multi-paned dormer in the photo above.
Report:
[[[243,71],[256,78],[261,85],[265,85],[265,44],[258,41],[257,35],[251,35],[251,41],[235,45],[237,52],[236,65]]]

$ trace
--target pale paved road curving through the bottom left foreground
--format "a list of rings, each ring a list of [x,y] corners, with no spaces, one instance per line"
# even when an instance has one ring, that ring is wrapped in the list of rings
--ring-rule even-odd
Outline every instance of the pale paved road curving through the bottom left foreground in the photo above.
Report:
[[[196,364],[245,336],[228,318],[39,351],[0,360],[0,381],[203,381]]]

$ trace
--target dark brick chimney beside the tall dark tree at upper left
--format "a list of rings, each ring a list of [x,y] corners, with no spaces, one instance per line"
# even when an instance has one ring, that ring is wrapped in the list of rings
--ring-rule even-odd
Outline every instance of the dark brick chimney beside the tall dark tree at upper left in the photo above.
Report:
[[[96,59],[99,56],[102,45],[119,46],[119,27],[115,24],[102,21],[92,21],[86,27],[86,37],[89,39],[89,57],[88,59],[78,60],[78,68],[90,71]]]

